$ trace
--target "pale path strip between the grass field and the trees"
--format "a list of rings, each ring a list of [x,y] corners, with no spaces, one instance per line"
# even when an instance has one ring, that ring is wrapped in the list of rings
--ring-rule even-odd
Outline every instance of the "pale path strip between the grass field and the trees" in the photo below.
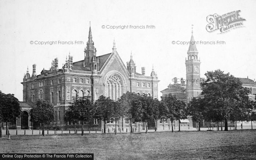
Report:
[[[222,127],[224,130],[225,128]],[[209,130],[210,128],[206,127],[206,128],[200,128],[201,131],[207,131]],[[234,127],[228,127],[229,130],[234,130]],[[251,129],[251,126],[243,126],[243,129]],[[253,126],[253,129],[256,129],[256,126]],[[180,129],[181,131],[197,131],[197,129],[195,127],[193,127],[192,129],[188,129],[188,128],[183,128],[181,127]],[[211,127],[211,130],[213,131],[217,131],[217,127]],[[221,130],[221,127],[219,127],[219,130]],[[237,126],[237,130],[241,130],[241,126]],[[127,132],[126,132],[127,131]],[[174,129],[175,132],[178,131],[178,127],[176,127]],[[14,129],[10,129],[9,130],[10,134],[13,136],[13,135],[16,135],[16,130]],[[17,135],[32,135],[32,132],[33,132],[33,135],[39,135],[39,134],[42,134],[42,130],[17,130]],[[146,132],[146,130],[141,130],[140,129],[140,132],[139,130],[137,129],[136,132],[134,133],[144,133]],[[155,132],[155,130],[148,130],[148,132]],[[157,132],[172,132],[172,128],[169,129],[169,127],[165,127],[165,128],[160,128],[158,127],[158,130]],[[2,134],[3,136],[5,135],[6,133],[6,130],[3,130],[2,129]],[[81,129],[78,129],[77,131],[77,134],[81,134]],[[84,131],[84,133],[86,134],[89,134],[89,131]],[[95,134],[96,132],[95,131],[90,131],[91,134]],[[102,133],[102,130],[101,131],[97,131],[97,134],[101,134]],[[106,133],[114,133],[114,131],[112,131],[112,129],[109,129],[109,132],[108,132],[108,128],[106,128]],[[124,128],[123,131],[117,131],[117,133],[129,133],[129,129],[126,129]],[[54,130],[45,130],[45,134],[69,134],[69,130],[56,130],[55,133],[54,133]],[[70,134],[75,134],[75,130],[74,129],[71,129],[70,130]]]

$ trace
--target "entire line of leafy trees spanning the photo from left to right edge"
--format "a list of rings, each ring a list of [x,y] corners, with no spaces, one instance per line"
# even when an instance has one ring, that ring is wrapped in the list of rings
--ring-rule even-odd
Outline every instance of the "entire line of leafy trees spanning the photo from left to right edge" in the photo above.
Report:
[[[207,72],[205,75],[207,79],[201,84],[204,98],[193,98],[187,107],[184,102],[178,100],[172,94],[163,96],[162,100],[159,101],[146,95],[127,92],[118,101],[113,101],[104,96],[100,96],[95,103],[87,98],[74,100],[65,112],[64,119],[66,122],[81,121],[82,128],[84,123],[89,123],[93,118],[100,119],[104,122],[104,133],[106,133],[106,122],[110,121],[111,118],[114,118],[115,122],[128,118],[131,132],[132,122],[144,122],[146,133],[148,122],[154,121],[156,130],[158,119],[170,119],[170,122],[173,123],[174,120],[192,116],[193,121],[198,122],[199,126],[203,120],[224,121],[226,131],[228,130],[228,120],[256,120],[256,114],[253,112],[256,103],[249,100],[248,90],[242,87],[238,78],[220,70]],[[4,94],[0,91],[0,128],[1,122],[7,124],[8,122],[15,122],[20,115],[21,109],[18,99],[12,94]],[[53,106],[47,101],[39,99],[35,107],[31,109],[30,116],[34,122],[42,124],[42,134],[44,135],[45,124],[54,119]],[[8,133],[8,125],[6,133]]]

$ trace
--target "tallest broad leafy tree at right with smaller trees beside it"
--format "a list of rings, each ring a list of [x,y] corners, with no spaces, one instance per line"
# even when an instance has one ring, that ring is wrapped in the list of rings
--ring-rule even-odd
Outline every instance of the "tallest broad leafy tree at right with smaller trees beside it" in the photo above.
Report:
[[[206,81],[201,83],[204,98],[193,98],[188,104],[187,115],[193,121],[203,120],[218,123],[225,122],[225,131],[228,130],[227,121],[256,121],[255,102],[249,100],[248,89],[242,87],[240,79],[223,73],[221,70],[207,72]],[[251,124],[252,125],[252,124]]]

